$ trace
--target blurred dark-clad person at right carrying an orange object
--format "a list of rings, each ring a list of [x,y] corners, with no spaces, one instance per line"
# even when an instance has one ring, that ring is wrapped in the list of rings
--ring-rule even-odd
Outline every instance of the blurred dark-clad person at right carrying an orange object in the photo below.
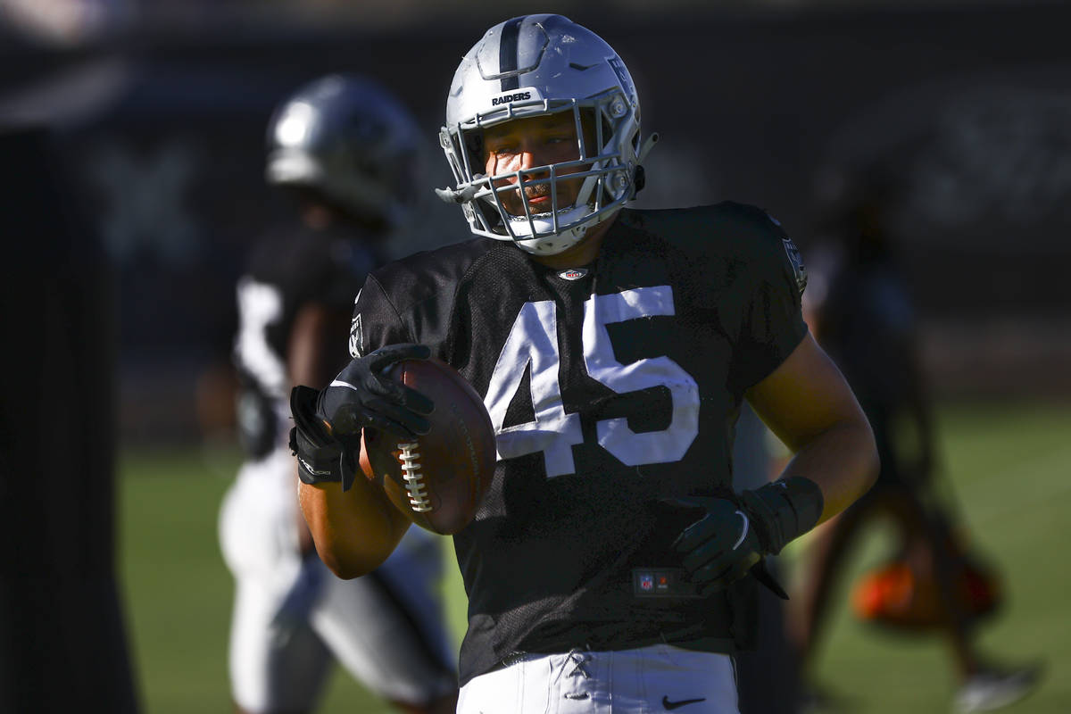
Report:
[[[961,681],[955,710],[990,711],[1029,693],[1038,670],[998,667],[972,643],[974,626],[999,601],[997,582],[968,552],[963,523],[937,483],[917,319],[888,232],[893,184],[879,170],[863,177],[840,199],[827,226],[835,241],[812,254],[803,313],[870,420],[881,471],[863,498],[811,536],[800,564],[802,586],[793,598],[794,638],[806,677],[849,547],[862,526],[886,515],[900,549],[857,584],[857,612],[903,633],[944,633]],[[835,704],[814,686],[804,692],[808,711]]]

